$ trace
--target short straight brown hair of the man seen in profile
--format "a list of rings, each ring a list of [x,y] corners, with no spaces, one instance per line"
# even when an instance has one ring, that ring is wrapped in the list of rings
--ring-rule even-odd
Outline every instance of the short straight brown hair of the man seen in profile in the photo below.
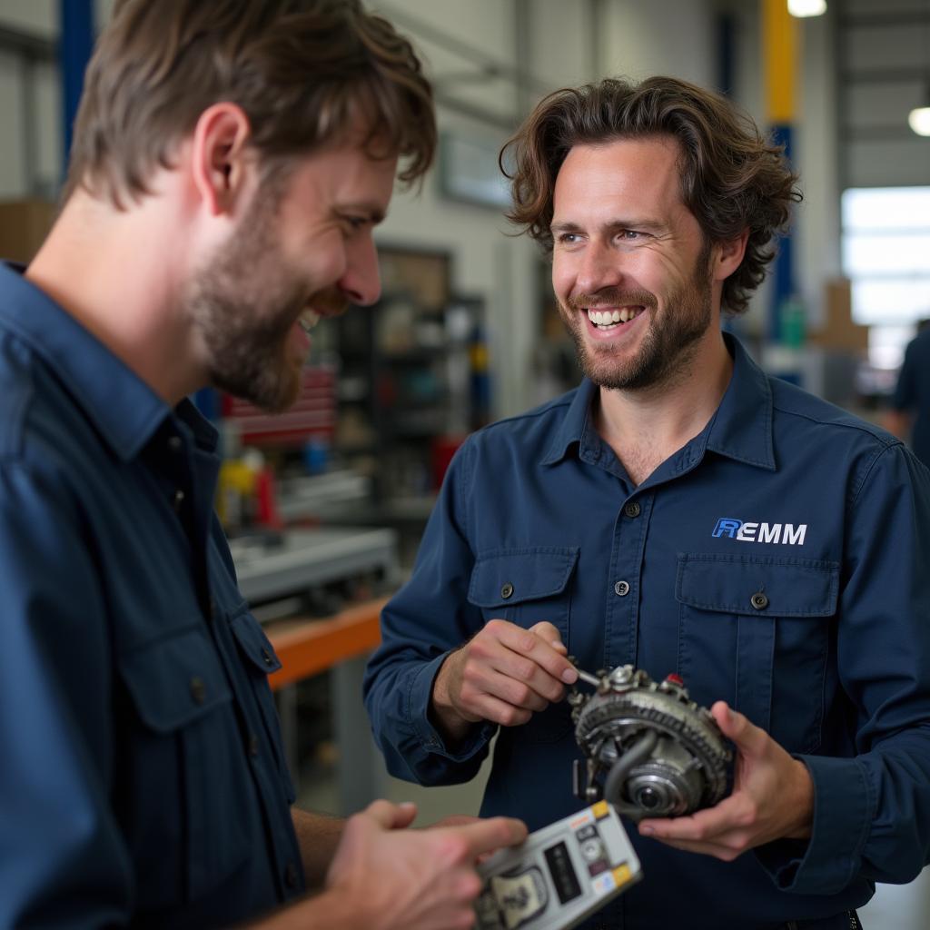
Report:
[[[81,185],[122,206],[207,107],[242,107],[251,145],[282,164],[362,113],[373,154],[432,163],[432,89],[410,43],[360,0],[117,0],[87,66],[64,198]],[[379,147],[375,153],[374,147]]]

